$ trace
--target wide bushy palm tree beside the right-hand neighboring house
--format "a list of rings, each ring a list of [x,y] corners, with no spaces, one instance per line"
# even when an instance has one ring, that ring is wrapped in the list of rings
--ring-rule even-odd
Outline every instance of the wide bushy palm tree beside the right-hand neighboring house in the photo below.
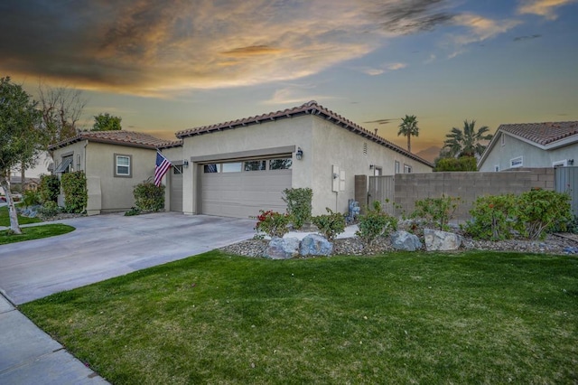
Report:
[[[482,155],[486,146],[481,145],[481,141],[491,140],[493,135],[486,134],[489,131],[487,126],[480,127],[476,132],[476,121],[468,119],[463,121],[463,129],[453,127],[450,134],[447,134],[443,141],[443,148],[447,148],[448,155],[451,156],[476,156]]]

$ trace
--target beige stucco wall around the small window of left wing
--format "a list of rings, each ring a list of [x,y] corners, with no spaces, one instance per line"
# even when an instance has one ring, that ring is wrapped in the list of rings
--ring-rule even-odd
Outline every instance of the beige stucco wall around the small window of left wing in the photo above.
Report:
[[[56,164],[61,157],[73,155],[74,170],[83,170],[87,176],[89,202],[92,214],[106,211],[125,211],[135,205],[135,185],[154,175],[154,149],[117,146],[81,141],[54,151]],[[80,162],[78,163],[78,155]],[[115,176],[115,155],[131,156],[131,176]],[[78,165],[79,164],[79,165]],[[100,202],[97,202],[100,200]],[[99,203],[99,204],[98,204]]]

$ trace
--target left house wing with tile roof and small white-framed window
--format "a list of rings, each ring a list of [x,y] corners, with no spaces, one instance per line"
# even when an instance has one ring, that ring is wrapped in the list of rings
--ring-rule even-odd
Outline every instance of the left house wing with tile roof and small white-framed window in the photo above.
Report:
[[[90,131],[49,149],[54,174],[84,171],[89,193],[87,213],[94,215],[133,207],[135,185],[154,175],[156,149],[170,143],[138,132]]]

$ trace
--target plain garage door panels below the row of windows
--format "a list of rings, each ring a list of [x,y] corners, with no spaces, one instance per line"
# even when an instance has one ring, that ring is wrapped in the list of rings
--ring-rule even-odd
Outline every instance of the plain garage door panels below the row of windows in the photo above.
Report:
[[[224,217],[255,217],[259,210],[284,212],[281,199],[291,188],[291,170],[203,174],[201,212]]]

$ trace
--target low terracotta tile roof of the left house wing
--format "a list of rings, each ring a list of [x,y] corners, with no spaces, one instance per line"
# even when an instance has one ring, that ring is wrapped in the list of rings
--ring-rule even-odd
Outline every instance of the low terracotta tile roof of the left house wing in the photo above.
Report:
[[[89,140],[90,142],[108,143],[111,145],[135,146],[143,148],[161,148],[180,146],[181,140],[169,141],[159,139],[158,137],[144,134],[142,132],[134,131],[82,131],[77,136],[70,137],[59,143],[55,143],[49,147],[53,150],[55,148],[68,146],[80,140]]]

